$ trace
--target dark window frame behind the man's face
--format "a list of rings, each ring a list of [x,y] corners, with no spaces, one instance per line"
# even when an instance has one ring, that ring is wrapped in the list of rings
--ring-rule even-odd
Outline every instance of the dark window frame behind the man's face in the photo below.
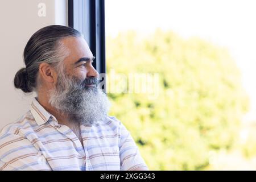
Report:
[[[105,0],[68,0],[68,26],[82,33],[96,56],[93,67],[106,73]]]

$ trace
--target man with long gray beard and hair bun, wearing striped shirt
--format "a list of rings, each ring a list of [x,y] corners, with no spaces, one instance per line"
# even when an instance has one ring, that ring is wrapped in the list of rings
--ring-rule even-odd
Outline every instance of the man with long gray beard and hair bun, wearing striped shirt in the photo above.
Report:
[[[37,97],[0,132],[0,170],[147,170],[126,127],[108,116],[94,56],[79,31],[41,28],[14,86]]]

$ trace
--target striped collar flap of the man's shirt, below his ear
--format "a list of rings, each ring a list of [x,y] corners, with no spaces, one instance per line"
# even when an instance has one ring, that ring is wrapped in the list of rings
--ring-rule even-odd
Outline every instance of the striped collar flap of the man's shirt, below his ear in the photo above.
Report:
[[[35,118],[36,123],[40,126],[46,123],[52,116],[39,102],[34,98],[30,105],[30,111]],[[52,116],[53,117],[53,116]]]

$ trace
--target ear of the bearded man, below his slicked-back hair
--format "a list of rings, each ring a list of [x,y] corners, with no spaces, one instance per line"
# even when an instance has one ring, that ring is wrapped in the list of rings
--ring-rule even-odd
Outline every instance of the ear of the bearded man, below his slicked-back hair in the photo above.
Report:
[[[39,74],[46,82],[54,84],[57,81],[57,73],[48,63],[41,63],[39,65]]]

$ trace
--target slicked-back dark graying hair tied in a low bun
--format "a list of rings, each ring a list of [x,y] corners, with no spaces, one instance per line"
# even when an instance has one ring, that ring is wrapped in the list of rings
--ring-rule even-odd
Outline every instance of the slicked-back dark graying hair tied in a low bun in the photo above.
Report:
[[[39,65],[48,63],[59,68],[63,59],[68,55],[61,40],[67,37],[81,37],[81,33],[74,28],[52,25],[41,28],[28,40],[24,48],[23,59],[26,68],[21,68],[14,77],[14,86],[25,93],[36,91],[39,82]]]

